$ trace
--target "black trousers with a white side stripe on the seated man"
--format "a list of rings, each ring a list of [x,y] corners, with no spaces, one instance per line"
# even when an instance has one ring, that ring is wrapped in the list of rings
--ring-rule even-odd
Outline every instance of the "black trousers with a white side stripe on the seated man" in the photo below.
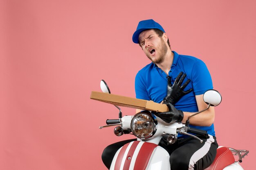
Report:
[[[216,157],[218,148],[216,137],[209,136],[209,139],[198,136],[204,141],[202,143],[193,137],[178,139],[174,144],[169,144],[164,139],[161,139],[159,146],[166,149],[170,154],[171,170],[203,170],[211,165]],[[105,166],[110,169],[112,159],[117,150],[135,140],[129,139],[107,146],[101,156]]]

